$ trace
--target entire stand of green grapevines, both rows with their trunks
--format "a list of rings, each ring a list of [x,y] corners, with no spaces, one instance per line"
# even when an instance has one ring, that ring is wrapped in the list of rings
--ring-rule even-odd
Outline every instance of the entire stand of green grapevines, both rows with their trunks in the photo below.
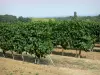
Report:
[[[83,20],[70,21],[36,21],[0,23],[0,48],[5,57],[6,51],[22,55],[23,52],[35,55],[35,63],[51,54],[55,47],[63,49],[90,51],[95,43],[100,42],[100,23]],[[62,51],[63,55],[63,51]]]

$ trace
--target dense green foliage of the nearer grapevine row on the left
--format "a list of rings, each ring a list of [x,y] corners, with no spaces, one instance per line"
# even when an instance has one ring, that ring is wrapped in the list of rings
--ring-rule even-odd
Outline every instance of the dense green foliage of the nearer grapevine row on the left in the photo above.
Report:
[[[50,40],[51,27],[47,23],[16,23],[0,25],[0,47],[22,54],[26,51],[40,59],[50,54],[53,45]]]

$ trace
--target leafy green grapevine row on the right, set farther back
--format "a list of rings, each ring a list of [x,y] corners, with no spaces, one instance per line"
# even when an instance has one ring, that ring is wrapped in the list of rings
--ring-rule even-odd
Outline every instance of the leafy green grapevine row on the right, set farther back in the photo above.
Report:
[[[64,49],[81,50],[92,49],[96,41],[100,42],[100,23],[81,20],[61,21],[53,27],[52,37],[54,45],[61,45]],[[63,54],[63,53],[62,53]]]

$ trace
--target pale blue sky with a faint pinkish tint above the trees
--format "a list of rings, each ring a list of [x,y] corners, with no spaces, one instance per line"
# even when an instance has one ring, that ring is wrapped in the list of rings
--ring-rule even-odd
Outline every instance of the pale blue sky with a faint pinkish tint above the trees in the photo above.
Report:
[[[0,14],[24,17],[79,16],[100,14],[100,0],[0,0]]]

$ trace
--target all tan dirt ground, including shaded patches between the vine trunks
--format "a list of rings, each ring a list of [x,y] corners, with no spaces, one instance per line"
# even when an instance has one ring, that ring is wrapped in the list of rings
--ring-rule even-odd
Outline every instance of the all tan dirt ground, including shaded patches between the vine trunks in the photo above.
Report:
[[[36,65],[32,57],[25,56],[23,62],[20,55],[13,60],[11,56],[4,58],[1,54],[0,75],[100,75],[100,52],[82,51],[82,58],[74,56],[75,50],[65,50],[61,56],[61,49],[55,49],[53,54],[41,59],[40,65]]]

